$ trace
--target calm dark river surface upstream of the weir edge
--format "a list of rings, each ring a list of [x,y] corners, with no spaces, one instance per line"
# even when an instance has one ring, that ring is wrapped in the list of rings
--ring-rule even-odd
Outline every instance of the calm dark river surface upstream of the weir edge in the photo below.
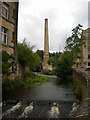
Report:
[[[75,101],[71,84],[62,85],[60,79],[51,77],[49,82],[32,88],[18,88],[3,93],[3,100],[8,99],[29,99],[29,100],[57,100]]]

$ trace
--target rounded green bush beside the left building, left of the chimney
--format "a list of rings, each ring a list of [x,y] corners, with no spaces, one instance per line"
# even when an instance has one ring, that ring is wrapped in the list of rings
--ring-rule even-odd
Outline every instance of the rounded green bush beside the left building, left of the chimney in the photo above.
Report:
[[[18,43],[17,52],[19,63],[23,67],[29,67],[30,70],[36,69],[40,63],[40,58],[36,53],[33,53],[32,47],[27,43]]]

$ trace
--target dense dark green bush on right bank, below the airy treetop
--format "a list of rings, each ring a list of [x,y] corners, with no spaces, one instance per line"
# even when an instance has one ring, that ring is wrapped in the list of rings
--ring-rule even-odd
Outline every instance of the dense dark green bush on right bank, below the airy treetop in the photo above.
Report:
[[[57,75],[61,77],[63,80],[71,80],[72,78],[72,65],[73,65],[73,59],[71,52],[65,52],[61,60],[58,61],[56,71]]]

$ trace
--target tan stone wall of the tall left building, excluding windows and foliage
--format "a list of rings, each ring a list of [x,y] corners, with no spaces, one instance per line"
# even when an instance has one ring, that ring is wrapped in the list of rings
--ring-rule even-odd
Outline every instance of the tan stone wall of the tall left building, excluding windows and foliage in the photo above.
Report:
[[[7,6],[8,8],[8,18],[2,16],[2,5]],[[0,51],[6,51],[9,55],[12,55],[11,60],[12,67],[10,68],[10,75],[2,77],[3,80],[7,79],[16,79],[18,77],[18,68],[17,65],[17,20],[18,20],[18,3],[17,2],[0,2],[0,27],[4,27],[8,30],[7,32],[7,42],[2,43]],[[4,82],[4,81],[3,81]]]

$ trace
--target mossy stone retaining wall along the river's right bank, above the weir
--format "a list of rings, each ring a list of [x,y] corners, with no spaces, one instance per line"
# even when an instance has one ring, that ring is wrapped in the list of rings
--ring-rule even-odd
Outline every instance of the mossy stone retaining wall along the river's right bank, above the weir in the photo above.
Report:
[[[73,83],[74,83],[75,92],[77,94],[81,94],[82,99],[88,97],[89,79],[90,76],[86,72],[80,71],[79,69],[73,70]]]

